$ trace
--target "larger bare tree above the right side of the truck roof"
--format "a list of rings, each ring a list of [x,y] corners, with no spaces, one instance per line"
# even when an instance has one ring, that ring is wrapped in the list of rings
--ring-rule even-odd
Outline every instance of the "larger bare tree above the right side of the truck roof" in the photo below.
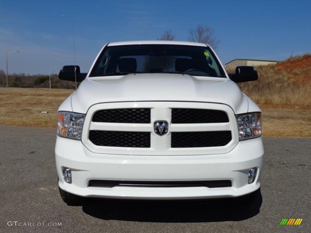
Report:
[[[189,30],[189,34],[190,41],[209,44],[214,49],[218,47],[219,40],[214,36],[214,29],[211,27],[199,25]]]

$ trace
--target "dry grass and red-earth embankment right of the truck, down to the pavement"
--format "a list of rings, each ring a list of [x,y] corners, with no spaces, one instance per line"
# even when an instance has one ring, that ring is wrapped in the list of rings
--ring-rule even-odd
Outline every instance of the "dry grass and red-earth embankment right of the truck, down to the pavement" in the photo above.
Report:
[[[311,54],[257,71],[258,81],[239,86],[262,109],[263,135],[311,137]]]

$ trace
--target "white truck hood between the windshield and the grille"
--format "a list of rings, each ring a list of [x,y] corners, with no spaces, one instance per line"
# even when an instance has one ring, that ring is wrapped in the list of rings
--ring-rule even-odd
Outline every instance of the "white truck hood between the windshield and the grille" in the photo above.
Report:
[[[96,103],[191,101],[221,103],[235,113],[248,111],[248,98],[227,78],[183,74],[129,74],[84,80],[71,96],[73,112],[86,113]]]

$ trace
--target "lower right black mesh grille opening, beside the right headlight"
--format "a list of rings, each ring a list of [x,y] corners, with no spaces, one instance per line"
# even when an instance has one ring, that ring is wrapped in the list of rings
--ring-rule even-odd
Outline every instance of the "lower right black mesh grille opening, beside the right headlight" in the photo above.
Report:
[[[231,139],[231,131],[172,132],[171,147],[225,146]]]

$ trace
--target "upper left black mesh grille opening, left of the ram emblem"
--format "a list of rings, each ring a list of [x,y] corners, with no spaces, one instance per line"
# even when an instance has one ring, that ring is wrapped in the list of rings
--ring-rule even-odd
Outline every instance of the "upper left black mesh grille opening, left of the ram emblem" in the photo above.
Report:
[[[93,122],[150,123],[150,108],[105,109],[95,112]]]

